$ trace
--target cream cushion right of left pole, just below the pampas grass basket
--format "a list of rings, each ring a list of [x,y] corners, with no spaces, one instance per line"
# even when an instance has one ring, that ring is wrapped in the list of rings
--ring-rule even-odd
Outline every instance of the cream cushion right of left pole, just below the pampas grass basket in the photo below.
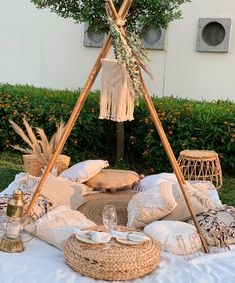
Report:
[[[55,177],[51,174],[46,179],[41,195],[53,201],[55,205],[66,205],[77,209],[84,202],[82,190],[69,185],[64,178]]]

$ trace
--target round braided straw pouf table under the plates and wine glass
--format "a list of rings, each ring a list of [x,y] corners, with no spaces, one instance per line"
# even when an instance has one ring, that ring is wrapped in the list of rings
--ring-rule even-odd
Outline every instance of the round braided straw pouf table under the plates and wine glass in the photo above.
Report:
[[[119,230],[127,231],[125,227]],[[102,226],[93,230],[103,231]],[[90,246],[72,235],[65,243],[66,263],[80,274],[103,280],[131,280],[152,272],[160,262],[160,248],[150,240],[138,245],[123,245],[111,241],[111,248]]]

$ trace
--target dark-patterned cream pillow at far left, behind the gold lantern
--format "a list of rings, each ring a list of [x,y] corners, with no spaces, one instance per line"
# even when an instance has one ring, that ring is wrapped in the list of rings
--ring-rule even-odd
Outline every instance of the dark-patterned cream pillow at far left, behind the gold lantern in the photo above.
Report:
[[[33,194],[24,193],[24,202],[25,202],[25,210],[27,209],[31,199],[33,197]],[[4,214],[7,209],[7,203],[11,199],[11,195],[4,195],[0,197],[0,215]],[[39,196],[36,200],[36,203],[32,209],[31,217],[34,221],[42,217],[44,214],[46,214],[48,211],[52,210],[55,207],[54,203],[43,196]]]

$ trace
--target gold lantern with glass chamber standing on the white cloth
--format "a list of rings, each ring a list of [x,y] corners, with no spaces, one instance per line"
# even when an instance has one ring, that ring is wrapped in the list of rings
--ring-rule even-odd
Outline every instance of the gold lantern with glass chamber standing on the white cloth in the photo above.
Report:
[[[23,192],[15,190],[7,204],[6,214],[1,217],[2,237],[0,251],[14,253],[24,250],[21,237],[23,227],[24,200]]]

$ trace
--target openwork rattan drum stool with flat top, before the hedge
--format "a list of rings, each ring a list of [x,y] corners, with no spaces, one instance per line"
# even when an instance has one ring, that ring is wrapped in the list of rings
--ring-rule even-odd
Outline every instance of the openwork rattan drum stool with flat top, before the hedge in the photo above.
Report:
[[[178,163],[186,180],[207,180],[217,189],[222,187],[222,171],[215,151],[183,150]]]

